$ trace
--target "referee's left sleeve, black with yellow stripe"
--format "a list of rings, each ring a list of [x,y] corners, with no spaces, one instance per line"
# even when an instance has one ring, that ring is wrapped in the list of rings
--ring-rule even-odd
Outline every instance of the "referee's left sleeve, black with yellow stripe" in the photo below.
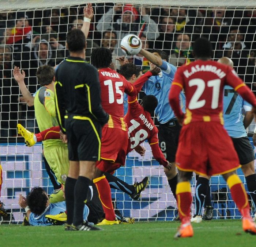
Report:
[[[55,82],[55,106],[56,106],[56,116],[57,116],[57,121],[59,123],[59,126],[61,128],[61,131],[65,134],[66,129],[65,129],[65,101],[64,101],[64,92],[63,92],[63,85],[61,82],[56,81]]]

